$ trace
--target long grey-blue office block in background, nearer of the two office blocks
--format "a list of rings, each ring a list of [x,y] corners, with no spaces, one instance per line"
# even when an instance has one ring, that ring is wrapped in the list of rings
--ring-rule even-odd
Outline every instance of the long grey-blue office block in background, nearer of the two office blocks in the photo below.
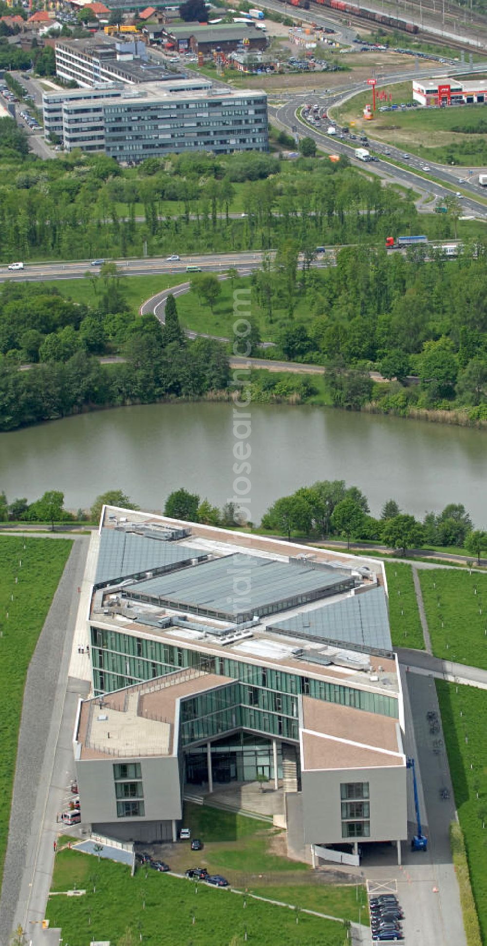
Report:
[[[207,79],[44,93],[44,130],[64,149],[105,151],[128,164],[182,151],[267,151],[267,96]]]

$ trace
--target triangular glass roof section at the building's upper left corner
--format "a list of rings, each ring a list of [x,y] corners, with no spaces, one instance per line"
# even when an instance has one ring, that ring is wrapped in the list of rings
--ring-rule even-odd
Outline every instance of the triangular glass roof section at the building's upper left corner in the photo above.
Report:
[[[95,583],[120,581],[148,569],[160,569],[198,557],[199,552],[179,543],[161,542],[157,538],[115,529],[102,529]]]

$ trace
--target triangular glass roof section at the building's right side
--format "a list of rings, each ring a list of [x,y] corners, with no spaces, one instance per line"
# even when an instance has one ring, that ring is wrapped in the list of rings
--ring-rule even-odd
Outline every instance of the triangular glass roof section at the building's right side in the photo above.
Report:
[[[337,604],[308,609],[285,621],[278,621],[271,631],[309,640],[327,640],[353,644],[363,650],[391,651],[391,632],[382,587],[345,598]]]

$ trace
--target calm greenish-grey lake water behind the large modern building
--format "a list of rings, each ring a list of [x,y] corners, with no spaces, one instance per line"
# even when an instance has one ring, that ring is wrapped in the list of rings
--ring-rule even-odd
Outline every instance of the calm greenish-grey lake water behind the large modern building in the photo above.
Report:
[[[252,405],[252,518],[315,480],[343,479],[378,514],[393,498],[423,516],[463,502],[487,526],[487,434],[372,414]],[[154,404],[82,414],[0,434],[0,489],[36,499],[61,489],[68,508],[120,488],[161,509],[179,486],[221,506],[233,496],[228,404]]]

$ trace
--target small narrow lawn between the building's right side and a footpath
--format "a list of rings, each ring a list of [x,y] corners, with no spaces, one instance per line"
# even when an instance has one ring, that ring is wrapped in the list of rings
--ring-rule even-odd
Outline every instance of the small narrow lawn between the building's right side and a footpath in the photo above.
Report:
[[[392,644],[394,647],[414,647],[425,650],[411,566],[387,562],[386,574]]]

